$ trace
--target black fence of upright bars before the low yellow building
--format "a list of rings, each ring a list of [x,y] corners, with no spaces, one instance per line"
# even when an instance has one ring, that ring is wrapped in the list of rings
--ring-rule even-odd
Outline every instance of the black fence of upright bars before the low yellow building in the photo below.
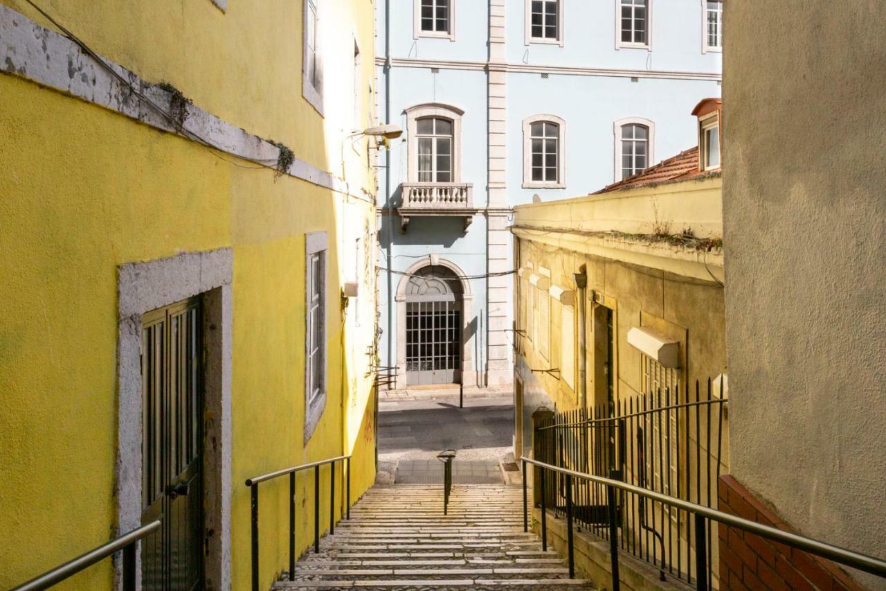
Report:
[[[704,392],[696,382],[694,390],[664,389],[612,405],[556,413],[536,425],[534,457],[716,508],[717,482],[725,465],[727,405],[709,380]],[[557,516],[571,510],[579,527],[610,540],[616,531],[610,527],[606,487],[588,480],[570,485],[559,473],[551,476],[539,489],[546,506]],[[619,495],[614,510],[620,532],[615,541],[622,551],[656,566],[662,580],[666,573],[692,582],[695,532],[687,514],[633,494]],[[705,533],[710,553],[713,540],[710,530]],[[706,564],[709,580],[714,566]]]

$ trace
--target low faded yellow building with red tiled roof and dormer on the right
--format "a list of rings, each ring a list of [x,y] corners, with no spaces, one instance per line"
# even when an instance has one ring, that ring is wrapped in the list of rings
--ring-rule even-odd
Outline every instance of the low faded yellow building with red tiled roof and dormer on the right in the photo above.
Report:
[[[591,195],[517,207],[515,454],[716,506],[728,466],[719,99],[693,114],[698,147]],[[579,522],[603,523],[604,491],[573,495]],[[664,545],[665,564],[688,572],[687,516],[622,511],[629,551],[660,563]]]

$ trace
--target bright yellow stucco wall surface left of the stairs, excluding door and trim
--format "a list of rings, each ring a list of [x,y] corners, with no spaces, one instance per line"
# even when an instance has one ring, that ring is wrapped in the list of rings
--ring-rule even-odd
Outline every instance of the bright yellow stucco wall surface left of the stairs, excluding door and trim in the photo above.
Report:
[[[27,4],[0,1],[45,24]],[[368,89],[372,3],[324,4],[324,17],[359,39]],[[353,193],[374,193],[366,143],[341,149],[354,123],[350,96],[327,102],[325,117],[302,98],[300,2],[234,0],[226,13],[209,0],[175,7],[48,1],[44,8],[100,55],[146,80],[174,83],[207,112],[344,174]],[[330,72],[336,59],[353,59],[351,35],[325,38]],[[346,72],[326,77],[332,94],[352,78],[349,68],[339,69]],[[368,92],[361,102],[368,113]],[[338,249],[350,231],[343,211],[357,212],[374,231],[371,199],[243,168],[229,156],[225,162],[187,139],[19,76],[0,75],[0,137],[0,587],[113,536],[118,266],[215,248],[233,249],[231,580],[235,589],[247,587],[245,478],[340,453],[355,455],[354,499],[374,478],[365,354],[374,315],[364,314],[369,329],[345,338],[352,311],[343,311],[338,296],[349,279]],[[329,398],[303,445],[305,232],[321,230],[329,232]],[[361,294],[364,311],[373,298],[374,289]],[[286,488],[281,481],[261,491],[267,584],[287,552],[279,527]],[[326,477],[324,498],[328,488]],[[303,510],[310,507],[313,483],[299,477],[300,548],[313,531]],[[105,561],[64,588],[109,588],[112,579]]]

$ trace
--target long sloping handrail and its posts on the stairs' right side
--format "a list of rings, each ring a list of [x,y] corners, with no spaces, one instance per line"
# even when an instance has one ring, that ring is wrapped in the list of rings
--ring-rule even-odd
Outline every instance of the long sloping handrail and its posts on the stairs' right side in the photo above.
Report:
[[[737,527],[740,530],[745,532],[750,532],[757,534],[758,536],[762,536],[769,540],[774,540],[777,542],[781,542],[787,546],[792,548],[800,548],[805,550],[806,552],[810,552],[812,554],[823,556],[825,558],[829,558],[830,560],[835,561],[836,563],[841,563],[845,566],[849,566],[854,569],[858,569],[859,571],[870,572],[879,577],[886,578],[886,560],[882,558],[877,558],[875,556],[867,556],[865,554],[861,554],[859,552],[855,552],[848,548],[841,548],[839,546],[835,546],[833,544],[828,544],[827,542],[823,542],[820,540],[814,540],[812,538],[807,538],[805,536],[801,536],[797,533],[784,532],[783,530],[779,530],[774,527],[770,527],[768,525],[758,524],[757,522],[750,521],[748,519],[742,519],[742,517],[736,517],[734,515],[730,515],[728,513],[724,513],[717,509],[712,509],[708,507],[704,507],[703,505],[698,505],[693,502],[689,502],[688,500],[677,499],[672,496],[668,496],[662,493],[656,493],[654,491],[649,491],[645,488],[641,488],[635,485],[628,485],[627,483],[621,482],[619,480],[614,480],[612,478],[599,477],[593,474],[587,474],[585,472],[577,472],[575,470],[559,468],[557,466],[553,466],[551,464],[545,463],[543,461],[532,460],[525,456],[521,456],[520,460],[523,461],[524,464],[524,474],[525,474],[525,466],[526,464],[532,464],[532,466],[537,466],[541,469],[541,485],[544,485],[544,474],[546,470],[550,470],[553,472],[557,472],[563,474],[563,476],[567,477],[569,481],[567,482],[567,486],[571,484],[571,478],[579,478],[581,480],[588,480],[590,482],[596,483],[598,485],[605,485],[608,487],[610,492],[609,494],[609,502],[610,502],[610,516],[614,515],[613,505],[615,500],[615,490],[619,489],[625,491],[626,493],[638,494],[642,497],[651,500],[657,500],[658,502],[664,503],[666,505],[670,505],[671,507],[675,507],[678,509],[682,509],[689,513],[692,513],[696,516],[696,580],[698,581],[698,588],[706,590],[707,589],[707,576],[704,574],[706,569],[705,557],[706,550],[705,546],[705,527],[704,527],[704,519],[711,519],[712,521],[719,522],[721,524],[726,524],[731,527]],[[526,478],[523,479],[524,491],[526,488]],[[567,488],[567,490],[569,490]],[[544,494],[541,495],[541,504],[542,504],[542,522],[545,519],[545,509],[544,509]],[[567,500],[568,497],[567,497]],[[528,529],[527,523],[527,513],[528,506],[526,503],[526,495],[524,492],[524,528]],[[567,512],[571,514],[571,510]],[[568,528],[569,528],[569,538],[571,539],[571,518],[568,519]],[[614,525],[610,523],[610,527]],[[547,532],[544,532],[545,525],[542,524],[542,543],[546,541]],[[615,535],[611,536],[611,552],[612,552],[612,563],[613,563],[613,579],[612,579],[612,588],[613,591],[618,590],[618,548],[615,541]],[[571,546],[571,544],[570,544]],[[572,552],[572,548],[570,548],[570,555]],[[570,569],[572,569],[572,564],[570,564]]]

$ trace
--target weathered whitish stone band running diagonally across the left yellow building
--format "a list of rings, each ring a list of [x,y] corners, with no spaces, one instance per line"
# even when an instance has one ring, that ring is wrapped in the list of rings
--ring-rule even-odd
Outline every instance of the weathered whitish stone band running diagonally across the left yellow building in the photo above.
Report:
[[[19,75],[22,78],[61,91],[88,103],[103,106],[155,129],[176,133],[166,119],[154,113],[141,100],[133,100],[128,87],[108,74],[94,59],[63,35],[27,19],[12,8],[0,4],[0,73]],[[127,79],[157,105],[171,109],[171,94],[110,59],[105,63]],[[273,168],[279,148],[259,136],[243,130],[238,125],[223,121],[198,106],[188,107],[188,119],[184,129],[206,139],[209,146],[249,161],[268,162]],[[190,138],[181,136],[184,139]],[[296,158],[286,174],[290,177],[322,186],[354,199],[367,199],[366,195],[351,193],[346,182],[313,164]]]

